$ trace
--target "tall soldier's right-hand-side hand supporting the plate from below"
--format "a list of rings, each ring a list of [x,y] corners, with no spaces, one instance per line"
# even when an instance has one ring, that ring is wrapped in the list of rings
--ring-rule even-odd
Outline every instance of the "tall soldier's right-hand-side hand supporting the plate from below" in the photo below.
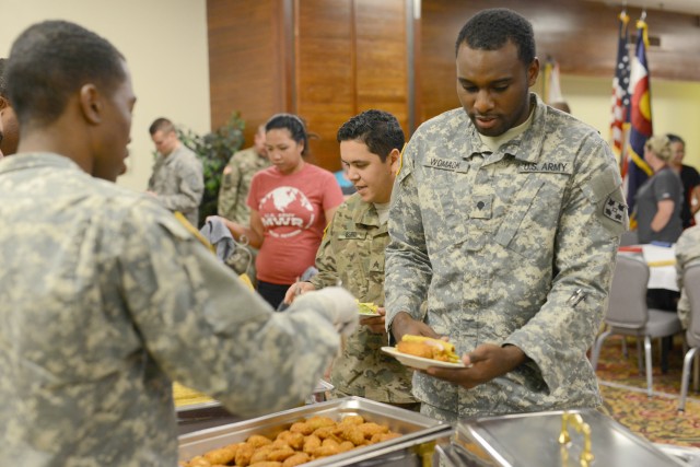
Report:
[[[515,346],[482,343],[462,357],[466,366],[464,370],[432,366],[425,373],[471,389],[516,369],[525,359],[525,353]]]

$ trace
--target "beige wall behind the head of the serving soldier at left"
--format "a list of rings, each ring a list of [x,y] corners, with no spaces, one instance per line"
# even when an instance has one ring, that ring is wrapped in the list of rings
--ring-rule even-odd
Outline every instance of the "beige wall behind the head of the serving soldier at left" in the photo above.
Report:
[[[127,58],[138,102],[128,171],[119,185],[143,190],[153,144],[148,127],[164,116],[197,132],[210,129],[206,0],[0,0],[0,56],[44,20],[68,20],[112,42]],[[47,70],[48,72],[48,70]]]

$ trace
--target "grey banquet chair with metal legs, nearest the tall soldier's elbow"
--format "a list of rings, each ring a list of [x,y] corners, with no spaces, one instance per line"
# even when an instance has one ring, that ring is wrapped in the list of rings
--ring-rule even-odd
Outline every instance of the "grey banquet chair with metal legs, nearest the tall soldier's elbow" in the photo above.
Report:
[[[612,285],[608,310],[605,315],[606,330],[595,340],[591,364],[595,370],[603,342],[610,335],[644,338],[644,362],[646,366],[646,395],[652,397],[652,342],[654,338],[673,336],[682,330],[677,313],[649,308],[646,283],[649,266],[642,259],[618,255],[612,273]],[[640,351],[641,353],[641,351]],[[641,355],[640,355],[641,370]]]

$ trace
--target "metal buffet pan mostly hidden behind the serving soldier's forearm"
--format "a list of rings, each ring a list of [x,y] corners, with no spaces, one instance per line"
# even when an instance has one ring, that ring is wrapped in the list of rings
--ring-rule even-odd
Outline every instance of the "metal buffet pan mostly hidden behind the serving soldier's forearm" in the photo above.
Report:
[[[322,380],[318,382],[313,394],[308,396],[305,402],[322,402],[326,400],[326,393],[332,389],[332,384]],[[191,433],[192,431],[246,420],[245,418],[237,417],[229,412],[218,400],[179,406],[175,408],[175,412],[177,415],[178,434]]]

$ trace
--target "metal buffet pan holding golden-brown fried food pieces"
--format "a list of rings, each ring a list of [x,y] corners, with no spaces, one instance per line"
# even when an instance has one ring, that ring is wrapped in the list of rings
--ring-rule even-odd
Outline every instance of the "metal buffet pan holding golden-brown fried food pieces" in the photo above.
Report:
[[[388,425],[392,431],[401,433],[401,436],[312,460],[304,464],[304,467],[349,465],[427,467],[431,465],[434,440],[439,437],[447,440],[452,434],[452,427],[448,423],[361,397],[345,397],[182,435],[179,436],[179,459],[188,460],[228,444],[245,441],[253,434],[273,437],[301,419],[323,416],[339,421],[343,417],[354,415],[362,416],[366,421]]]

